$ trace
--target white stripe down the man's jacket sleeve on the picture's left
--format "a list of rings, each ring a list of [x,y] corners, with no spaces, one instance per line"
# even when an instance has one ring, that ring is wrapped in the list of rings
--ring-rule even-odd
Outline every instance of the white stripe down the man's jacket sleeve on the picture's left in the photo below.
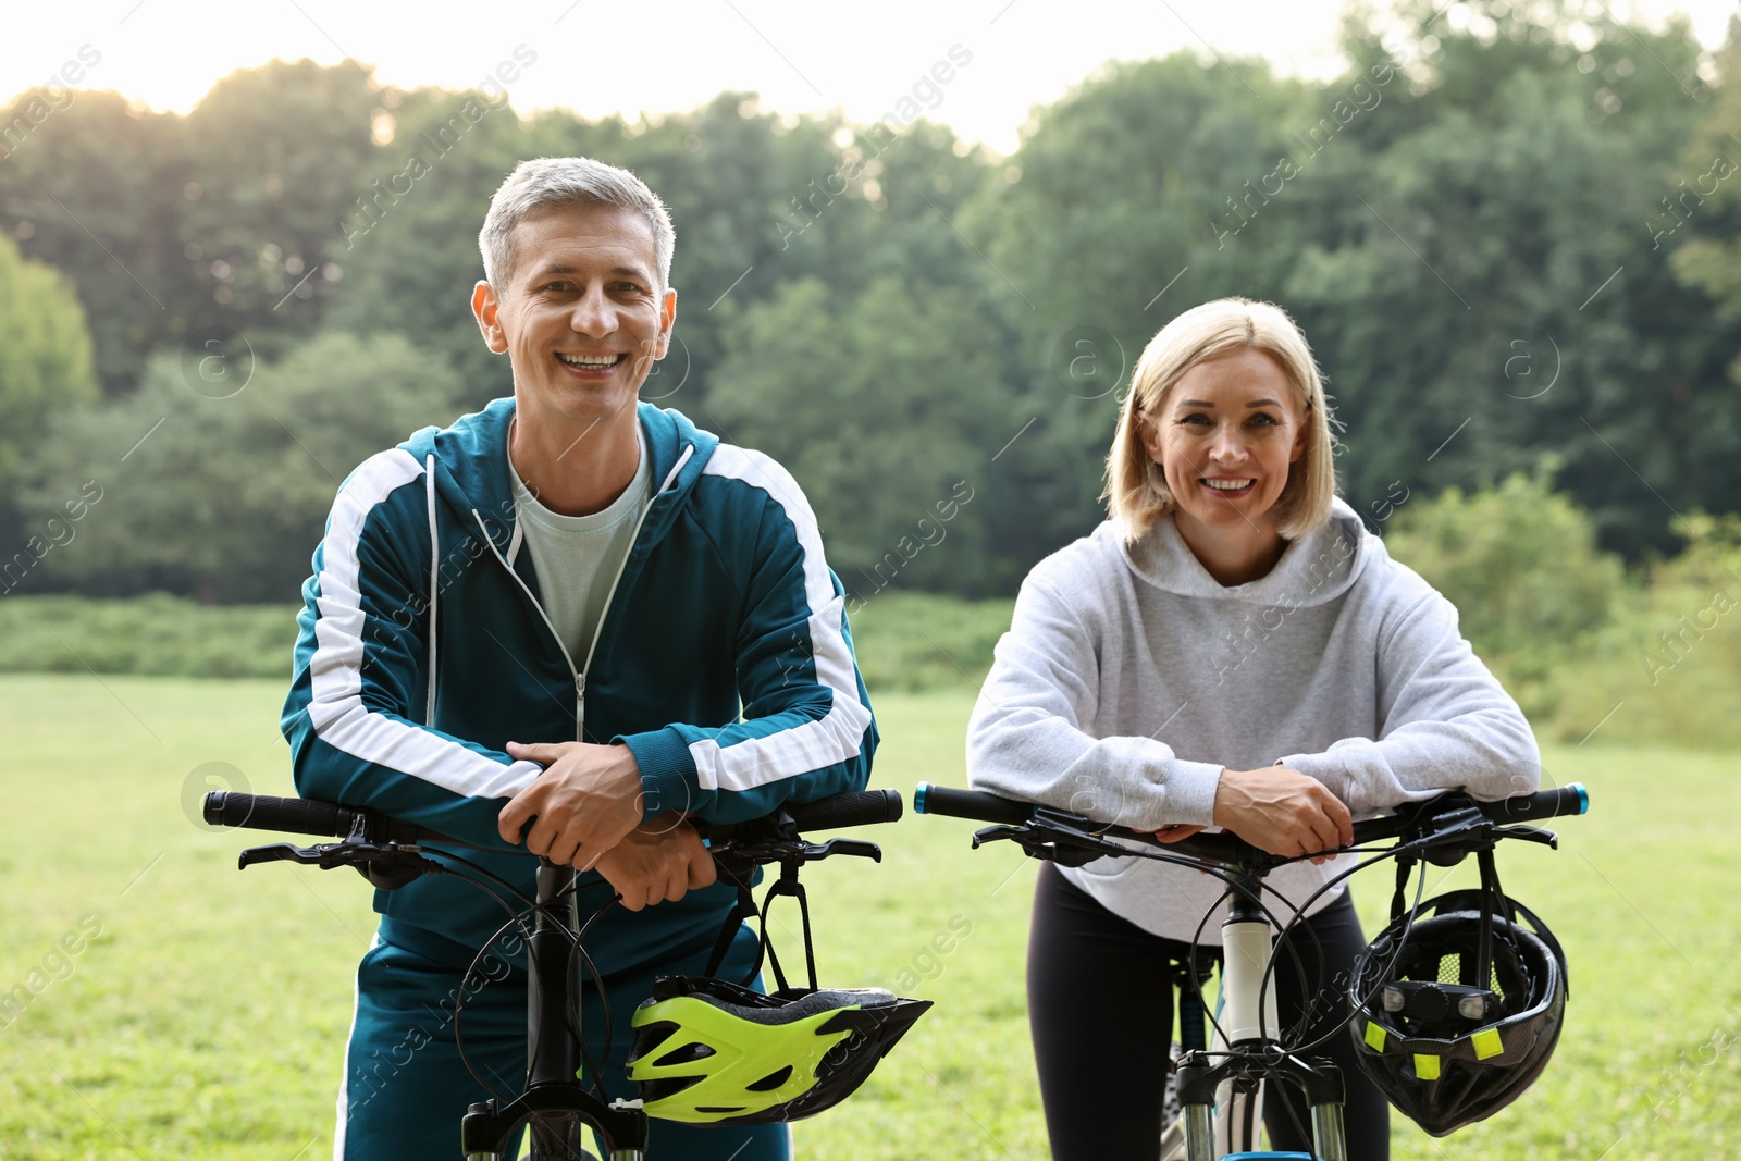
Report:
[[[435,733],[374,714],[362,701],[364,614],[357,541],[369,513],[421,473],[423,465],[411,453],[399,447],[383,451],[352,473],[333,503],[315,602],[315,654],[308,663],[308,721],[317,738],[364,762],[467,797],[510,797],[543,768],[536,762],[503,766]]]

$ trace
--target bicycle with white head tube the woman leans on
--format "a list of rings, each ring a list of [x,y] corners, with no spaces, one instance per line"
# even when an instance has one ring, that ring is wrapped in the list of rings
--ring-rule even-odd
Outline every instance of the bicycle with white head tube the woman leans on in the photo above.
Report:
[[[1267,889],[1264,877],[1276,867],[1295,860],[1269,855],[1226,832],[1194,834],[1163,844],[1153,834],[1100,823],[1052,806],[930,783],[919,783],[914,790],[912,808],[919,815],[947,815],[994,823],[973,834],[975,849],[992,841],[1013,841],[1029,856],[1046,858],[1065,867],[1079,867],[1102,856],[1156,858],[1220,877],[1227,884],[1222,898],[1229,900],[1229,910],[1222,924],[1219,1015],[1210,1017],[1215,1037],[1208,1051],[1191,1046],[1191,1032],[1184,1029],[1189,1018],[1182,1013],[1180,1039],[1191,1050],[1182,1055],[1175,1067],[1180,1114],[1165,1130],[1161,1158],[1163,1161],[1215,1161],[1215,1158],[1222,1161],[1231,1158],[1348,1161],[1341,1070],[1321,1057],[1302,1058],[1301,1046],[1283,1043],[1276,997],[1269,987],[1271,976],[1278,970],[1273,954],[1276,931],[1285,929],[1287,924],[1276,923],[1276,916],[1262,902],[1262,893]],[[1330,879],[1297,909],[1295,919],[1318,896],[1358,870],[1386,858],[1398,860],[1398,895],[1393,900],[1393,912],[1400,912],[1407,876],[1415,862],[1450,867],[1469,853],[1476,853],[1482,862],[1483,891],[1489,881],[1497,891],[1492,848],[1499,841],[1523,839],[1556,849],[1558,836],[1529,823],[1562,815],[1583,815],[1588,808],[1590,794],[1581,783],[1497,802],[1478,802],[1461,790],[1449,790],[1438,797],[1398,808],[1393,815],[1356,822],[1353,846],[1335,853],[1363,851],[1368,844],[1382,839],[1398,839],[1398,842]],[[1410,924],[1421,909],[1424,886],[1426,872],[1422,867],[1414,909],[1408,910]],[[1205,916],[1207,921],[1208,916]],[[1201,935],[1201,926],[1198,935]],[[1400,947],[1398,943],[1398,956],[1402,954]],[[1191,954],[1196,961],[1196,938],[1193,938]],[[1186,987],[1194,989],[1194,1001],[1201,1011],[1203,978],[1200,971],[1186,970],[1180,980]],[[1482,987],[1487,987],[1485,971]],[[1365,1003],[1370,1003],[1377,990],[1374,985],[1372,994],[1365,994]],[[1389,996],[1384,999],[1388,1004]],[[1356,1008],[1363,1010],[1365,1003]],[[1349,1013],[1348,1020],[1353,1018],[1354,1011]],[[1344,1020],[1339,1030],[1346,1025]],[[1198,1036],[1196,1044],[1201,1044],[1201,1036]],[[1313,1154],[1254,1152],[1264,1081],[1283,1081],[1304,1088],[1311,1109]]]

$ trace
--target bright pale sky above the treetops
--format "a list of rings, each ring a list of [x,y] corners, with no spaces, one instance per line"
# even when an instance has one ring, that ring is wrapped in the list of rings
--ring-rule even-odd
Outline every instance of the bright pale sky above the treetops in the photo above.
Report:
[[[0,0],[0,94],[47,82],[113,89],[188,111],[211,85],[273,57],[346,59],[399,87],[468,87],[505,70],[519,111],[583,117],[691,110],[726,89],[782,113],[870,122],[918,91],[926,115],[1012,151],[1036,104],[1109,59],[1179,49],[1262,56],[1283,73],[1337,71],[1344,0]],[[1659,26],[1680,12],[1708,47],[1741,0],[1617,0]],[[1454,16],[1454,14],[1452,14]],[[1452,19],[1447,16],[1445,19]],[[94,63],[92,63],[94,61]],[[963,63],[965,61],[965,63]],[[945,84],[930,84],[938,63]],[[84,70],[80,73],[80,70]]]

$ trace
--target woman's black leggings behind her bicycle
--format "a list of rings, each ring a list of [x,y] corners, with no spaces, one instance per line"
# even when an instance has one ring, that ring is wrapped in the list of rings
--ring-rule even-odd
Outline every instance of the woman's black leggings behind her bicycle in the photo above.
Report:
[[[1348,1013],[1334,985],[1365,945],[1354,905],[1342,898],[1306,919],[1323,945],[1320,964],[1306,935],[1288,940],[1307,971],[1318,1013],[1307,1039]],[[1302,990],[1294,959],[1278,950],[1271,975],[1281,1025],[1299,1020]],[[1027,1018],[1039,1064],[1039,1097],[1053,1161],[1154,1161],[1160,1156],[1165,1060],[1173,1018],[1168,963],[1189,945],[1149,935],[1071,884],[1052,863],[1039,869],[1027,940]],[[1389,1105],[1356,1069],[1348,1032],[1314,1055],[1330,1057],[1348,1086],[1348,1152],[1389,1158]],[[1311,1152],[1311,1116],[1294,1084],[1264,1086],[1271,1149]],[[1292,1116],[1290,1116],[1292,1111]],[[1299,1128],[1295,1128],[1299,1126]],[[1304,1133],[1302,1133],[1304,1130]]]

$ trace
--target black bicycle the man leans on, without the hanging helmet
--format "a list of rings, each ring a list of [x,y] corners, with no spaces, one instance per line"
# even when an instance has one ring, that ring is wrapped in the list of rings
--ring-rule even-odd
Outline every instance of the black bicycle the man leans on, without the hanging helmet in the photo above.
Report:
[[[205,795],[204,815],[211,825],[341,839],[312,848],[291,842],[247,848],[240,855],[239,869],[266,862],[315,865],[322,870],[355,867],[369,882],[385,891],[400,888],[423,874],[456,874],[494,896],[508,912],[508,923],[496,931],[491,943],[508,929],[519,928],[528,947],[526,1084],[514,1098],[491,1097],[467,1111],[460,1124],[461,1152],[467,1161],[503,1161],[514,1138],[526,1126],[531,1131],[533,1161],[595,1161],[581,1142],[587,1130],[597,1133],[608,1161],[642,1161],[646,1158],[649,1126],[641,1100],[616,1098],[606,1104],[602,1090],[595,1088],[597,1069],[585,1060],[587,1053],[580,1039],[578,966],[581,961],[590,966],[590,961],[581,943],[587,924],[580,923],[578,916],[578,872],[573,867],[559,867],[547,858],[538,858],[536,898],[526,898],[514,884],[461,855],[442,849],[447,846],[484,848],[366,808],[212,790]],[[756,870],[764,865],[780,865],[780,881],[770,888],[768,902],[771,903],[775,895],[785,893],[796,895],[804,907],[804,952],[815,989],[810,914],[803,888],[797,884],[797,869],[832,855],[881,862],[883,851],[876,842],[860,839],[810,842],[801,837],[801,830],[888,823],[898,820],[900,815],[902,799],[897,790],[864,790],[817,802],[789,802],[766,818],[745,823],[707,825],[700,820],[691,820],[691,823],[710,846],[719,881],[738,888],[738,907],[733,916],[743,914]],[[517,896],[524,907],[515,910],[503,895]],[[606,907],[611,905],[615,905],[615,896],[606,903]],[[749,910],[754,914],[752,905]],[[602,914],[602,909],[597,914]],[[763,950],[783,985],[783,973],[780,973],[778,959],[773,957],[768,943],[766,903],[761,914]],[[531,929],[524,926],[526,916],[531,916]],[[728,924],[729,929],[731,924]],[[726,942],[723,933],[721,950]],[[472,968],[461,980],[461,996],[487,949],[486,943],[472,961]],[[597,980],[597,973],[594,973],[594,980]],[[460,1039],[458,1017],[456,1011],[456,1039]],[[460,1051],[463,1057],[463,1041],[460,1041]],[[588,1074],[594,1081],[592,1086],[581,1081]]]

